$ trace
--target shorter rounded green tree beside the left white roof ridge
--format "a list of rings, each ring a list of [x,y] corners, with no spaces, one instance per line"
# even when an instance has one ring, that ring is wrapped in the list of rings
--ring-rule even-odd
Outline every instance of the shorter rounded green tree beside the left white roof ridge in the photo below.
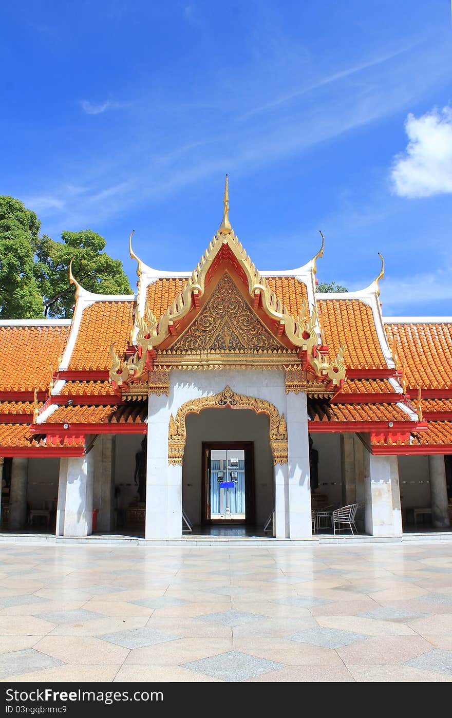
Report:
[[[34,276],[42,294],[45,317],[70,317],[74,304],[74,286],[69,284],[68,271],[75,279],[96,294],[132,294],[122,262],[103,249],[106,241],[91,229],[63,232],[62,242],[46,235],[37,239]]]

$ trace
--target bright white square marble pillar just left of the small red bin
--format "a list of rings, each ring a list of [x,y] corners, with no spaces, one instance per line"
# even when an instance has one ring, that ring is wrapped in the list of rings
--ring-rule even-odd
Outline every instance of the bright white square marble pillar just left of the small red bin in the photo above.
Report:
[[[57,536],[89,536],[93,527],[93,450],[60,459]]]

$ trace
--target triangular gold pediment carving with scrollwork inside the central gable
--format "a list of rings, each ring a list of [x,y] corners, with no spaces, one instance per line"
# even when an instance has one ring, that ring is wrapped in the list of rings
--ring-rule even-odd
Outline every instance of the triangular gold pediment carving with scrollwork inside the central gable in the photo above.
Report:
[[[227,272],[172,353],[271,353],[284,345],[267,329]]]

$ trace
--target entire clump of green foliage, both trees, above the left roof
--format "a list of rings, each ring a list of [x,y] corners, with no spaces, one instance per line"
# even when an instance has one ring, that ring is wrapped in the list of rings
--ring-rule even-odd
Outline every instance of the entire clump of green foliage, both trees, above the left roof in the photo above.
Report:
[[[40,236],[40,220],[14,197],[0,196],[0,319],[70,317],[74,286],[95,294],[131,294],[119,259],[91,229],[63,232],[62,241]]]

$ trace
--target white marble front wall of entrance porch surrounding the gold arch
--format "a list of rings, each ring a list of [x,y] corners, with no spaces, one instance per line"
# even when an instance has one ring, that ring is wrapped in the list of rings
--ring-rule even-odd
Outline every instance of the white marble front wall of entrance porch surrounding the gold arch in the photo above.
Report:
[[[275,467],[277,535],[310,536],[306,397],[302,393],[286,395],[282,370],[250,369],[173,371],[170,396],[149,396],[146,538],[182,535],[182,467],[168,465],[170,415],[176,416],[185,401],[216,394],[225,386],[236,393],[263,398],[285,414],[290,462],[289,467]]]

